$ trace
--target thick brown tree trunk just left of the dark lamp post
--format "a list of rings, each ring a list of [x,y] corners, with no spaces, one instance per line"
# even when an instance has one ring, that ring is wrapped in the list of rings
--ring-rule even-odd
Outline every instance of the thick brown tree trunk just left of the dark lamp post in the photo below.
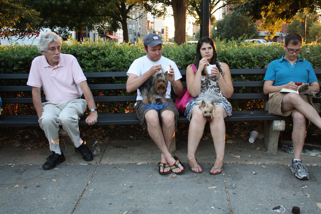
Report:
[[[174,41],[181,45],[186,42],[186,0],[172,0],[174,16]]]

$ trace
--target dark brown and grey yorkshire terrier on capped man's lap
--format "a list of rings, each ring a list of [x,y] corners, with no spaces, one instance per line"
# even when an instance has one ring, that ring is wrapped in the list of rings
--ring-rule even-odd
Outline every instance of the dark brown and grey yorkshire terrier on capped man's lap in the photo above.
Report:
[[[143,97],[143,104],[156,104],[156,97],[161,97],[161,104],[167,103],[166,90],[168,85],[167,72],[156,72],[146,82],[139,87]]]

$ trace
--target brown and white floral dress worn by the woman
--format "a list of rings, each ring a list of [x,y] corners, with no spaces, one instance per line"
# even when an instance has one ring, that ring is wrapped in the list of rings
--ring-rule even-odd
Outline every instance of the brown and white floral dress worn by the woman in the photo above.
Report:
[[[218,62],[218,64],[219,64],[219,66],[221,66],[221,62]],[[220,70],[220,75],[223,77],[223,72],[221,70]],[[204,94],[205,92],[211,91],[211,90],[215,91],[215,93],[221,98],[221,102],[218,102],[217,105],[221,105],[225,109],[227,115],[231,116],[232,115],[231,114],[232,113],[232,106],[231,106],[230,102],[227,100],[227,98],[225,98],[222,95],[221,89],[219,87],[219,83],[218,83],[218,81],[216,81],[216,77],[212,76],[212,75],[210,75],[209,77],[202,75],[202,77],[201,77],[201,91],[200,91],[199,95]],[[186,117],[189,121],[192,118],[192,111],[195,107],[198,107],[198,105],[195,105],[194,100],[191,100],[186,105],[185,113],[186,113]]]

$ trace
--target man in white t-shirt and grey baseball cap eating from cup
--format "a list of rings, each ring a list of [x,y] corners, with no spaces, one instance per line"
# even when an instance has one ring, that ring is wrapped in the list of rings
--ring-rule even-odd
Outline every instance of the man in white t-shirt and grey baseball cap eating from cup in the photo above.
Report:
[[[148,34],[144,38],[144,51],[146,56],[136,59],[127,71],[128,79],[126,83],[127,92],[137,90],[137,102],[135,104],[136,117],[144,125],[152,140],[161,150],[161,160],[159,163],[159,173],[161,175],[174,172],[181,174],[186,170],[183,163],[180,163],[177,157],[172,157],[169,153],[173,136],[175,133],[176,123],[178,119],[178,111],[175,103],[170,98],[171,87],[177,96],[183,95],[183,85],[180,81],[182,75],[179,73],[178,67],[172,60],[162,56],[162,41],[160,36],[154,33]],[[168,105],[162,109],[143,108],[142,97],[139,87],[147,81],[156,72],[160,72],[162,67],[170,65],[168,73],[168,87],[166,91],[166,99]],[[160,101],[157,97],[156,103]]]

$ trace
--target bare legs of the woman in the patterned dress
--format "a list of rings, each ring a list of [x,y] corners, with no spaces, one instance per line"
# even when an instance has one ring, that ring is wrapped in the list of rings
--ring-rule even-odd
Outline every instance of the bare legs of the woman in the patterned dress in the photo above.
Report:
[[[214,141],[214,148],[216,154],[216,161],[214,164],[215,168],[220,168],[223,165],[224,150],[225,150],[225,123],[224,118],[227,117],[225,109],[216,105],[215,118],[212,124],[210,124],[210,130]],[[190,166],[197,167],[195,160],[195,152],[198,144],[203,136],[204,127],[207,119],[203,116],[202,112],[198,107],[195,107],[192,112],[192,118],[188,130],[188,143],[187,143],[187,158]],[[201,167],[198,169],[192,169],[193,171],[202,171]],[[211,172],[220,172],[219,170],[211,170]]]

